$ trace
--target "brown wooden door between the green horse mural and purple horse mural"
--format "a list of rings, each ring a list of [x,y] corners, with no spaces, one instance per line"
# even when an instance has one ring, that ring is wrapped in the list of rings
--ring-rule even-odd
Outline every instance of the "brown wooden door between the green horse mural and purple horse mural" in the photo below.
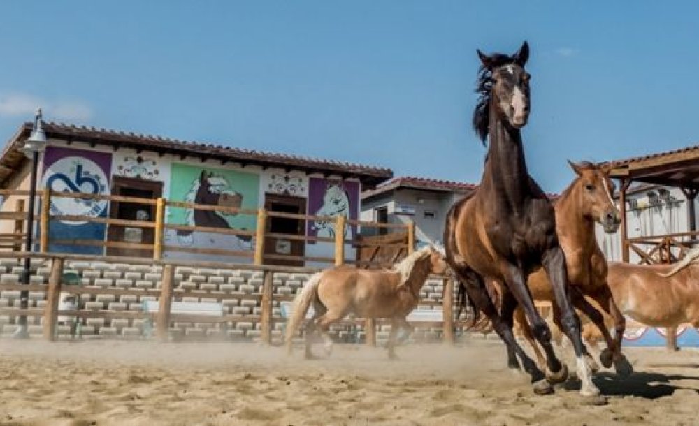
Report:
[[[305,214],[305,205],[305,198],[265,194],[264,208],[268,212]],[[265,256],[266,265],[303,266],[303,259],[291,256],[303,256],[305,241],[284,238],[284,235],[305,235],[303,219],[270,216],[267,218],[267,233],[272,235],[265,238],[264,253],[271,255]]]

